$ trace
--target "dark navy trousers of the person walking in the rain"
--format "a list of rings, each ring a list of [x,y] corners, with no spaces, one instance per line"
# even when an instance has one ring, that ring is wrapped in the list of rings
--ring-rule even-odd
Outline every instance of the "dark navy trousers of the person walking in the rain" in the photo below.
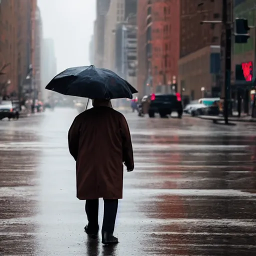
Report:
[[[113,233],[118,199],[104,199],[104,215],[101,232]],[[88,232],[98,230],[98,199],[89,199],[85,202],[85,212],[88,219]]]

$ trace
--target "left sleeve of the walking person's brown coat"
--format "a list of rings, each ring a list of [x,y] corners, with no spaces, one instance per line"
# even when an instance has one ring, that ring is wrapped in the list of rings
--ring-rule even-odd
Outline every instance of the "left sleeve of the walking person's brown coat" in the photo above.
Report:
[[[80,135],[79,128],[80,128],[79,122],[77,120],[77,117],[75,117],[68,131],[68,148],[69,148],[70,154],[74,157],[75,161],[77,160],[77,156],[78,156],[79,135]]]

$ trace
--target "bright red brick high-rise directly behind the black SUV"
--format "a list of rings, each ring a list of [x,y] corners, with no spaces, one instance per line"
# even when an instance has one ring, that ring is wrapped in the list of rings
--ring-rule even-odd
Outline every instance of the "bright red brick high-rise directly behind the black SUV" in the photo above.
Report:
[[[179,0],[138,0],[138,90],[168,92],[177,76]]]

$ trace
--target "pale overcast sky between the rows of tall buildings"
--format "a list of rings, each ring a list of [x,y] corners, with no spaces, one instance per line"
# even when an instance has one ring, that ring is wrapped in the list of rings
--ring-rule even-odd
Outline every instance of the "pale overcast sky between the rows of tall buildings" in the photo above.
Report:
[[[89,41],[96,15],[95,0],[37,0],[43,37],[55,43],[57,71],[88,65]]]

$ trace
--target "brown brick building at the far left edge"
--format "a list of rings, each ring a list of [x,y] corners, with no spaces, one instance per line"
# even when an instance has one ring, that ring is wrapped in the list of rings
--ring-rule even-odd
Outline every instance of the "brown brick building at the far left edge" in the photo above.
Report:
[[[0,93],[17,98],[31,64],[36,0],[0,1]],[[8,82],[8,86],[4,86]]]

